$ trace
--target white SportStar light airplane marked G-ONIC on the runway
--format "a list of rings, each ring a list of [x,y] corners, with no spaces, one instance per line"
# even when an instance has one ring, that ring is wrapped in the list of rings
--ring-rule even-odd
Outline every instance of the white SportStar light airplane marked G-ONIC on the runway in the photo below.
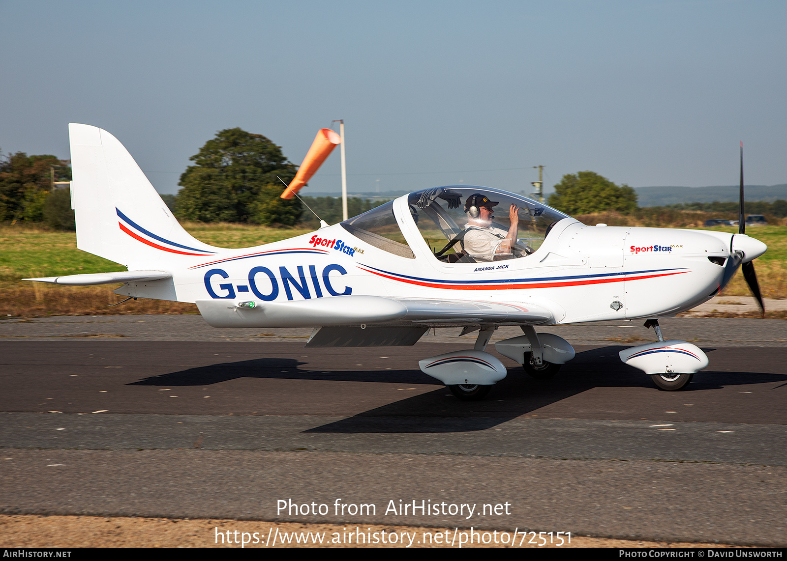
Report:
[[[313,327],[306,347],[413,345],[432,327],[478,330],[473,349],[419,361],[465,400],[482,399],[507,374],[486,352],[501,325],[523,336],[497,342],[497,352],[548,378],[575,352],[534,325],[645,320],[659,340],[620,358],[678,390],[708,358],[664,340],[659,318],[710,299],[741,263],[762,305],[752,260],[767,247],[745,235],[743,219],[738,234],[586,226],[527,197],[467,185],[412,192],[289,240],[214,248],[179,225],[112,134],[69,130],[77,247],[127,271],[25,280],[124,283],[116,294],[196,303],[216,328]],[[741,151],[741,200],[742,170]]]

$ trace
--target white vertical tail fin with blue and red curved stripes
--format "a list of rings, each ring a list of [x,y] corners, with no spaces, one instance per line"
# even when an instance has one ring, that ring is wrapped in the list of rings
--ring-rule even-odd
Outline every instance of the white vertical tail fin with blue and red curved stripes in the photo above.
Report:
[[[180,226],[112,134],[76,123],[68,125],[68,133],[77,248],[130,270],[216,253]]]

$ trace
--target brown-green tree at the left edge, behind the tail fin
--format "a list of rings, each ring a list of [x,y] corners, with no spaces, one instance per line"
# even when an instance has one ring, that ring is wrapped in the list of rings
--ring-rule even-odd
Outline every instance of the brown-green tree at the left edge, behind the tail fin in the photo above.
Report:
[[[39,222],[46,197],[55,181],[70,181],[67,159],[16,152],[0,158],[0,220]]]

